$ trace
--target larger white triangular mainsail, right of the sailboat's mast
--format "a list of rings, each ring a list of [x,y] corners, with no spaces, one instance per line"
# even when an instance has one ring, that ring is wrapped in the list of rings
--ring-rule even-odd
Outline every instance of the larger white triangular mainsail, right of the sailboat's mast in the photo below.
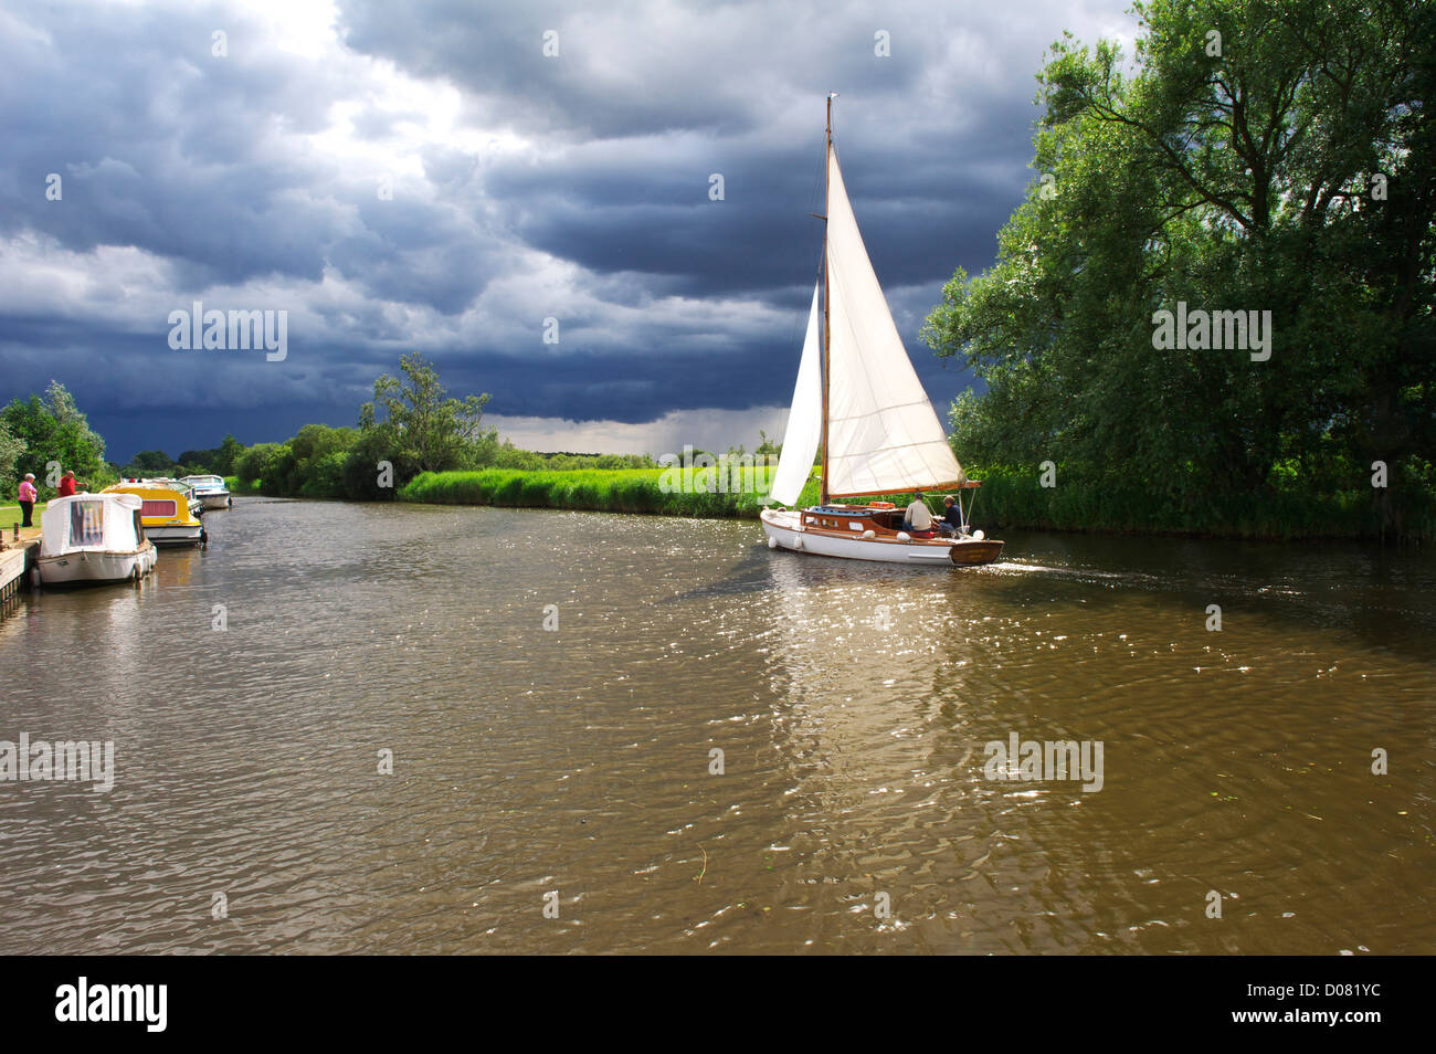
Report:
[[[903,350],[831,151],[827,178],[827,490],[951,487],[962,467]]]

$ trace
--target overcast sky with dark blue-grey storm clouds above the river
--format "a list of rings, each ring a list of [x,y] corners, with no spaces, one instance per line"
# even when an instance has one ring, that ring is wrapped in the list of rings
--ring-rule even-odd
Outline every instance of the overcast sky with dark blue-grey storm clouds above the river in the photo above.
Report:
[[[1126,7],[3,0],[0,404],[55,378],[122,462],[352,425],[419,350],[523,447],[751,448],[793,391],[839,92],[941,411],[968,378],[918,330],[1035,178],[1043,53],[1130,42]],[[195,300],[287,312],[287,358],[172,350]]]

